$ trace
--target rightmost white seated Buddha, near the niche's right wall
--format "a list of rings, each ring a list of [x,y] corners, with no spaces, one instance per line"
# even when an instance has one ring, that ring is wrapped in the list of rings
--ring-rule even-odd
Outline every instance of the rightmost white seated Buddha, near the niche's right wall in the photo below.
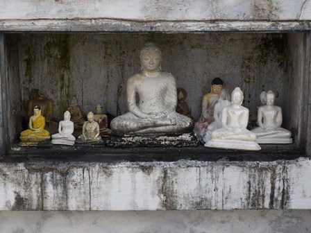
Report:
[[[266,94],[266,105],[258,107],[258,128],[251,130],[256,135],[258,144],[291,144],[292,133],[281,128],[283,121],[282,109],[274,105],[276,94]]]

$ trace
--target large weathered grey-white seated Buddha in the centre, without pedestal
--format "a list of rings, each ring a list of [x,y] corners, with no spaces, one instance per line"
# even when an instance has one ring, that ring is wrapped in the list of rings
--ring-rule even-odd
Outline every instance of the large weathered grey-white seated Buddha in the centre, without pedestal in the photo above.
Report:
[[[161,51],[147,43],[140,52],[142,71],[128,79],[128,112],[110,123],[114,134],[191,132],[192,119],[176,112],[176,81],[161,70]],[[136,96],[139,98],[137,104]]]

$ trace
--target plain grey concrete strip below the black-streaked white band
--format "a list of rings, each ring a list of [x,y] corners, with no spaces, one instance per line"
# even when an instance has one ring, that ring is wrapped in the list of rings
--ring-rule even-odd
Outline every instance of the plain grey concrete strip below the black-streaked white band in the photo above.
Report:
[[[1,233],[310,233],[306,210],[0,212]]]

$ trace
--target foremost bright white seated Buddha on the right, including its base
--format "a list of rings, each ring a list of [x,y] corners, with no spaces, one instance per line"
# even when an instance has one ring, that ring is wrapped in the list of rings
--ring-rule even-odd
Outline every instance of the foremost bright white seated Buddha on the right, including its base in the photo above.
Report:
[[[246,129],[249,110],[242,106],[243,92],[236,87],[231,94],[231,105],[224,107],[221,114],[221,126],[212,132],[212,139],[204,146],[237,150],[260,150],[255,143],[256,136]]]

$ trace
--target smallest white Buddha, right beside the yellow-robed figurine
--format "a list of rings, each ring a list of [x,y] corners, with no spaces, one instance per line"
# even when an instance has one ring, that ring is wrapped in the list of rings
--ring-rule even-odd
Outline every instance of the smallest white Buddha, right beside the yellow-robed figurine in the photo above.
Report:
[[[58,133],[52,135],[52,144],[62,144],[73,146],[76,138],[72,135],[74,132],[74,122],[70,121],[70,112],[64,113],[64,121],[58,124]]]

